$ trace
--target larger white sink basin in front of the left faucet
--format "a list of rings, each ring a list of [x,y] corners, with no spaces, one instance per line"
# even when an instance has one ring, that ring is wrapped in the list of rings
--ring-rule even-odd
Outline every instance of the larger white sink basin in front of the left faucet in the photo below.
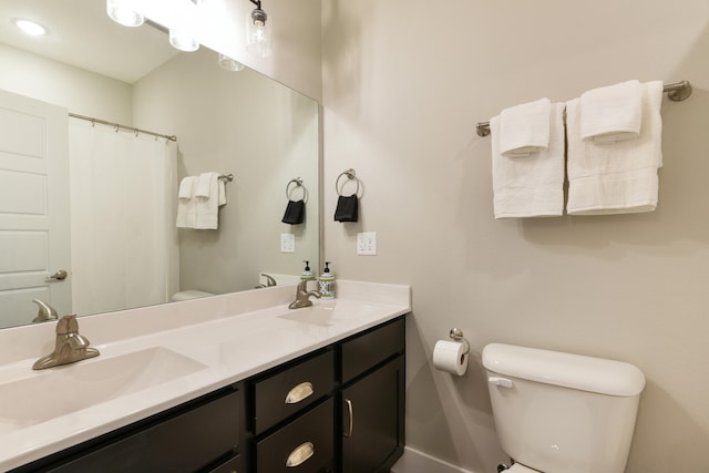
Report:
[[[131,394],[206,368],[163,347],[32,371],[0,382],[0,433]]]

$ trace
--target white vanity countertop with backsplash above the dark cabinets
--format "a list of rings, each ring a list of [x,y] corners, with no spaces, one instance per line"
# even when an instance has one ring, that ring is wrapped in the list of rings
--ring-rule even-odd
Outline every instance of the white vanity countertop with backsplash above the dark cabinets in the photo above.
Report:
[[[0,383],[56,378],[80,364],[86,369],[103,361],[109,367],[111,358],[154,348],[179,353],[192,367],[185,376],[127,394],[112,391],[112,399],[39,423],[18,425],[0,413],[0,470],[111,432],[411,310],[408,286],[338,281],[337,299],[289,310],[286,301],[294,295],[294,287],[277,287],[79,318],[80,333],[101,356],[41,371],[33,371],[32,363],[53,349],[55,323],[0,330]],[[55,395],[35,392],[31,402],[51,410]]]

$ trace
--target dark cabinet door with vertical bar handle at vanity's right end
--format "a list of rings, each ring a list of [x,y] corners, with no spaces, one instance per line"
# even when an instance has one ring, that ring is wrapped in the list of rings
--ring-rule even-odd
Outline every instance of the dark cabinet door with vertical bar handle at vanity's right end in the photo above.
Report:
[[[342,390],[342,472],[388,472],[403,453],[404,357]]]

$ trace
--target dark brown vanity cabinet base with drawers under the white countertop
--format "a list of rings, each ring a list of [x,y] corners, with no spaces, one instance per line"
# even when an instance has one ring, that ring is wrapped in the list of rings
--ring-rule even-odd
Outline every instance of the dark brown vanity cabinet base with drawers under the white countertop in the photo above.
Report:
[[[403,453],[404,317],[12,473],[384,473]]]

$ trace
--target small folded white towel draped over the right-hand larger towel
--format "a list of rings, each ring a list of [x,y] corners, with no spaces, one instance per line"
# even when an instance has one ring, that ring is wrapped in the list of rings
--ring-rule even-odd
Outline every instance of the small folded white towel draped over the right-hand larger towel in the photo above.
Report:
[[[627,81],[584,92],[580,137],[597,143],[637,138],[643,124],[643,84]]]

